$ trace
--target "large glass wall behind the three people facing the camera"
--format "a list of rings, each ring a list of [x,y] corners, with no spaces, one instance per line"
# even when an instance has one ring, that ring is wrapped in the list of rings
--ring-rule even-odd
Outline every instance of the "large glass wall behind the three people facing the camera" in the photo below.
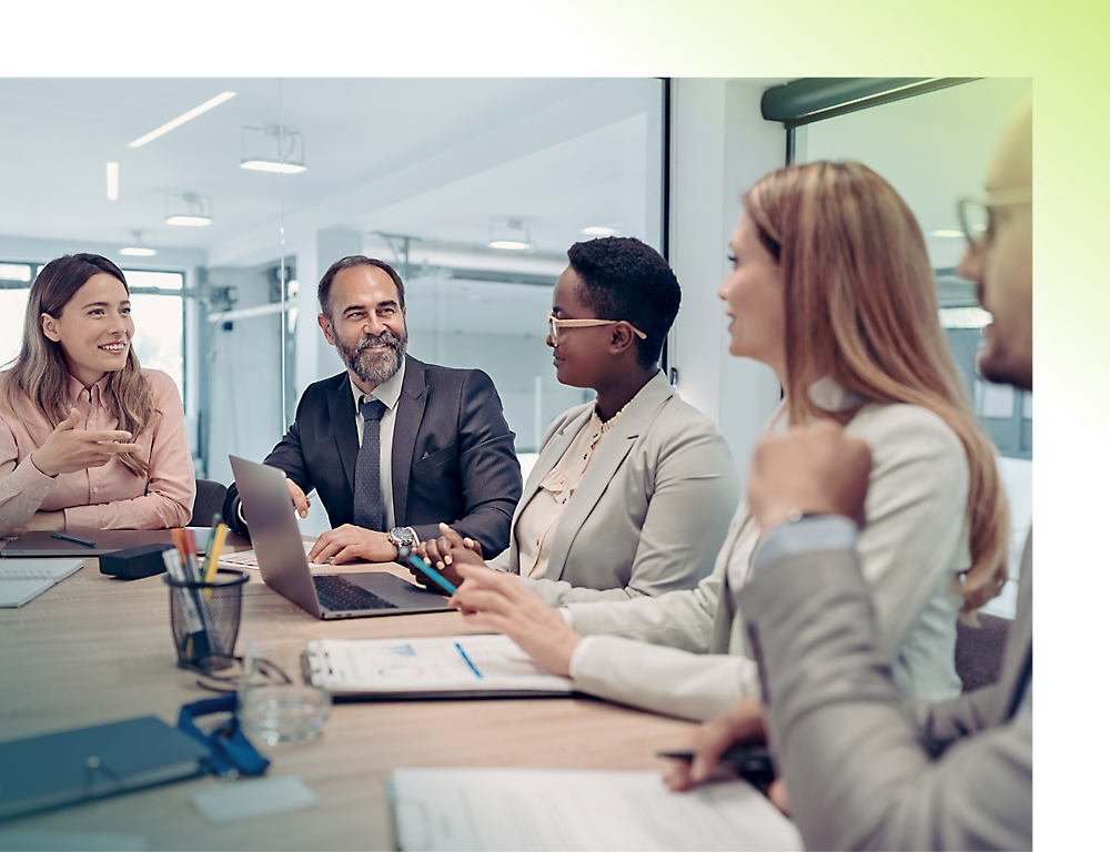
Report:
[[[663,106],[655,79],[0,80],[0,156],[21,163],[0,210],[0,357],[26,270],[112,258],[199,475],[229,483],[229,454],[264,457],[301,392],[343,369],[315,285],[365,253],[406,282],[411,354],[486,371],[526,455],[591,396],[558,385],[544,345],[567,247],[662,246]],[[170,223],[183,214],[208,223]]]

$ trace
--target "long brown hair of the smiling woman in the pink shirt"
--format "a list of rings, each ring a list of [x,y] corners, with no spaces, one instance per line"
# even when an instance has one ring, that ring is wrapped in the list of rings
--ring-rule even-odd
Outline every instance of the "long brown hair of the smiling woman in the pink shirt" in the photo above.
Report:
[[[67,396],[70,381],[65,355],[60,344],[42,333],[42,314],[60,317],[73,295],[93,275],[107,273],[119,278],[131,294],[123,271],[99,254],[67,254],[43,266],[27,300],[23,317],[23,342],[9,369],[0,373],[0,405],[19,418],[30,432],[20,405],[26,395],[47,418],[53,429],[69,415]],[[108,379],[109,406],[119,419],[117,428],[138,436],[154,417],[154,398],[150,384],[139,369],[139,358],[128,348],[128,362]],[[134,453],[122,453],[120,462],[135,476],[147,475],[147,463]]]

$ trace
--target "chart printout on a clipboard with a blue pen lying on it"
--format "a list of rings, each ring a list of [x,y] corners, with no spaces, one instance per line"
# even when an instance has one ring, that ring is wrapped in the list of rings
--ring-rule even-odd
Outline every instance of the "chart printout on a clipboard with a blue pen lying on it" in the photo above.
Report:
[[[548,674],[505,636],[321,639],[304,668],[313,686],[363,698],[557,698],[569,678]]]

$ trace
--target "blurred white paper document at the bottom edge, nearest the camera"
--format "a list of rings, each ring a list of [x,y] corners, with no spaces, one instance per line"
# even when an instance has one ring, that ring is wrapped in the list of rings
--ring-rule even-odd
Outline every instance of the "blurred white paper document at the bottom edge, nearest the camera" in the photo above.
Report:
[[[658,772],[397,769],[386,782],[402,852],[801,852],[747,781],[673,793]]]

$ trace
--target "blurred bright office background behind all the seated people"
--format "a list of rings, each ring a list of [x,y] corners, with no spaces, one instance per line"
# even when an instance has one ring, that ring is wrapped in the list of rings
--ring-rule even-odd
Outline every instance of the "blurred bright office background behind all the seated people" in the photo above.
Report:
[[[316,326],[315,285],[333,261],[365,253],[405,281],[412,355],[493,377],[527,466],[552,418],[592,396],[556,382],[544,343],[566,248],[636,236],[683,284],[668,373],[719,423],[743,473],[779,390],[765,367],[726,352],[716,290],[739,196],[787,159],[855,159],[921,223],[940,321],[1005,457],[1016,513],[1031,514],[1031,399],[976,375],[988,317],[955,271],[955,202],[981,195],[998,131],[1029,89],[1013,79],[3,79],[0,361],[18,349],[43,263],[111,257],[132,285],[142,364],[182,392],[198,475],[230,483],[228,455],[264,457],[304,387],[342,369]],[[325,526],[320,511],[304,523]]]

